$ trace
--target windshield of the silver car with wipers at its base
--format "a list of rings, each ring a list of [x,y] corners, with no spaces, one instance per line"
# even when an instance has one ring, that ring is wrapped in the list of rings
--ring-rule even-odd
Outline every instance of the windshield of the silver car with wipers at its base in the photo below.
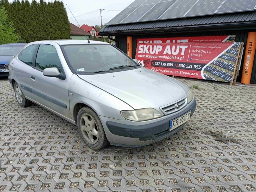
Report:
[[[108,44],[62,47],[71,67],[78,74],[105,73],[140,67],[127,55]]]

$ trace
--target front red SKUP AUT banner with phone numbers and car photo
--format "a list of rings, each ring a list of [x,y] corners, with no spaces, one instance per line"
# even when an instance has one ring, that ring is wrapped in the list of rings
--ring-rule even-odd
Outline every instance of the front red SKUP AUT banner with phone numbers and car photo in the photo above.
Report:
[[[136,59],[142,66],[165,75],[231,82],[242,44],[139,43]]]

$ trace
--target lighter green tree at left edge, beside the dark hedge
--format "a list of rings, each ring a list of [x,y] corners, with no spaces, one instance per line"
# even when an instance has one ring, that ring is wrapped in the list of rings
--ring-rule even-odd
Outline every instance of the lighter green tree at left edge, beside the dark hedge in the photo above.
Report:
[[[12,22],[8,20],[8,14],[4,7],[0,7],[0,44],[18,42],[19,38],[14,33]]]

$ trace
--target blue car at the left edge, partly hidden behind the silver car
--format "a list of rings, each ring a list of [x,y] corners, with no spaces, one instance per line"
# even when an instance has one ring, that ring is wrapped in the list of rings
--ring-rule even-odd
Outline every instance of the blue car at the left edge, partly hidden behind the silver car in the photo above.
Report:
[[[8,64],[12,56],[16,55],[26,44],[10,43],[0,45],[0,77],[9,76]]]

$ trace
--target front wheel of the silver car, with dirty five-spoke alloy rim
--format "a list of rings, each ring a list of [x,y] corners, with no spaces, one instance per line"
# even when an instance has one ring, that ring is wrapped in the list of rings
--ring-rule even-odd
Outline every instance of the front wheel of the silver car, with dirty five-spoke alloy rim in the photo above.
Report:
[[[77,125],[78,131],[88,147],[98,150],[109,144],[102,123],[91,108],[83,107],[80,109]]]

